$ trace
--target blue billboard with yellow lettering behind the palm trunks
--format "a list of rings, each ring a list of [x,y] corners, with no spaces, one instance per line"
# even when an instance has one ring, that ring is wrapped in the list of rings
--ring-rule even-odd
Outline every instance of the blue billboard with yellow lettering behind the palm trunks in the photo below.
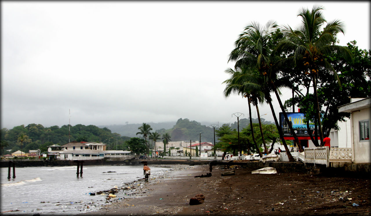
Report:
[[[289,124],[292,124],[292,128],[296,133],[296,136],[309,136],[308,128],[306,126],[306,122],[303,121],[304,113],[286,113],[289,119]],[[288,122],[286,122],[283,113],[279,113],[279,120],[280,120],[280,127],[283,132],[283,136],[292,136],[292,133],[289,129]],[[314,123],[309,121],[309,127],[311,129],[311,133],[314,136]],[[317,126],[317,134],[319,136],[319,129]],[[326,134],[326,132],[324,132]]]

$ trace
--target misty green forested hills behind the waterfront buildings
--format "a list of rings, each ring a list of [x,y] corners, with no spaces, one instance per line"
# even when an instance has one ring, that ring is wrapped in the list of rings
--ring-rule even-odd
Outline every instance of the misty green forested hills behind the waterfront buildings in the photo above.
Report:
[[[262,119],[264,120],[264,119]],[[257,119],[253,119],[257,123]],[[249,124],[249,119],[240,119],[240,131]],[[267,122],[265,122],[267,124]],[[270,123],[270,122],[269,122]],[[213,127],[203,125],[200,122],[190,121],[189,119],[178,119],[176,123],[149,123],[152,127],[151,132],[161,134],[169,133],[171,141],[179,140],[200,140],[201,142],[214,143]],[[138,127],[141,124],[126,124],[126,125],[107,125],[94,126],[76,124],[75,126],[63,125],[44,127],[41,124],[29,124],[27,126],[20,125],[12,129],[1,129],[1,155],[10,154],[17,150],[28,152],[29,150],[40,149],[41,152],[47,151],[47,146],[52,144],[63,145],[70,141],[78,142],[102,142],[109,144],[109,150],[117,149],[126,150],[127,143],[131,137],[140,137],[136,135],[139,132]],[[219,125],[220,127],[221,125]],[[237,129],[237,122],[230,124],[231,129]],[[218,129],[218,127],[216,127]],[[23,134],[23,136],[21,136]],[[216,140],[218,137],[216,137]],[[158,140],[161,141],[161,140]],[[108,149],[108,145],[107,145]],[[9,151],[7,151],[9,150]]]

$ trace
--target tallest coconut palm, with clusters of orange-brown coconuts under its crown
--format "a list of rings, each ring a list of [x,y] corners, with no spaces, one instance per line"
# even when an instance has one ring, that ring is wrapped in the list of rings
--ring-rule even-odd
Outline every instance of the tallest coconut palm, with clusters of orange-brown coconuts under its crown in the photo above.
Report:
[[[292,56],[287,60],[290,60],[294,65],[303,64],[305,66],[303,72],[312,77],[321,146],[324,144],[324,134],[317,94],[318,76],[321,73],[332,73],[339,82],[335,69],[326,60],[326,57],[338,53],[344,59],[352,60],[352,54],[347,47],[335,45],[336,34],[344,34],[344,23],[339,20],[326,22],[322,14],[323,9],[324,7],[318,5],[313,6],[311,11],[308,8],[302,8],[298,14],[302,18],[301,25],[295,30],[290,26],[283,26],[282,32],[287,39],[282,40],[276,47],[276,51],[279,53],[283,50],[292,50]],[[327,23],[326,26],[324,26],[325,23]]]

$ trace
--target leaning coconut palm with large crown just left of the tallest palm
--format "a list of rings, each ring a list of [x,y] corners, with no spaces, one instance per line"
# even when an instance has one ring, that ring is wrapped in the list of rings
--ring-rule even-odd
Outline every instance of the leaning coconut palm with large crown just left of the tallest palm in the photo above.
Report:
[[[271,102],[270,92],[272,90],[277,91],[276,88],[272,88],[272,78],[277,77],[276,70],[272,70],[276,61],[280,59],[280,56],[272,54],[272,50],[276,45],[277,41],[282,37],[280,34],[275,33],[277,25],[269,21],[265,27],[260,26],[259,23],[251,23],[246,26],[244,32],[240,34],[239,39],[236,40],[236,48],[231,52],[230,59],[236,61],[236,68],[250,68],[255,70],[259,76],[259,84],[262,87],[264,96],[267,103]],[[273,75],[273,76],[272,76]],[[271,104],[270,104],[271,105]],[[273,109],[273,106],[270,106]],[[282,106],[283,108],[283,106]],[[284,109],[282,109],[285,112]],[[272,113],[274,110],[272,110]],[[276,122],[278,123],[278,122]],[[279,124],[276,124],[277,129],[280,130]],[[283,137],[281,137],[283,138]],[[297,140],[299,149],[301,149],[300,143]],[[288,151],[286,143],[283,141],[286,152],[288,152],[289,160],[292,161],[293,157]]]

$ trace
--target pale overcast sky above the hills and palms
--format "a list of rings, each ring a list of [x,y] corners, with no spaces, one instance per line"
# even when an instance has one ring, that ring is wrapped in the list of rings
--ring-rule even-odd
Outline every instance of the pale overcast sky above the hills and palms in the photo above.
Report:
[[[344,21],[340,45],[370,49],[369,2],[319,3],[327,21]],[[246,99],[223,97],[240,32],[252,21],[294,28],[299,9],[315,4],[1,1],[1,127],[62,126],[69,116],[72,125],[233,123],[233,113],[249,114]],[[273,121],[269,106],[260,107]]]

